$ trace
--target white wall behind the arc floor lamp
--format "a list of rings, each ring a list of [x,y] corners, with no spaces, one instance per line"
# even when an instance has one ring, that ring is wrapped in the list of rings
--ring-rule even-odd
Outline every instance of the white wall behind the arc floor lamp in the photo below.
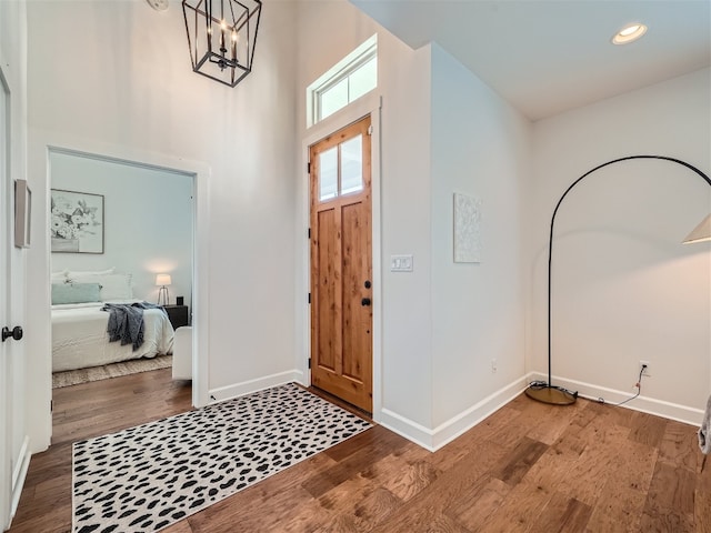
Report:
[[[548,231],[555,202],[598,164],[668,155],[711,172],[710,71],[704,69],[534,125],[530,199],[530,371],[545,372]],[[552,360],[559,380],[592,396],[634,392],[630,406],[699,423],[711,389],[711,244],[680,241],[711,211],[711,187],[663,161],[590,174],[555,220]]]

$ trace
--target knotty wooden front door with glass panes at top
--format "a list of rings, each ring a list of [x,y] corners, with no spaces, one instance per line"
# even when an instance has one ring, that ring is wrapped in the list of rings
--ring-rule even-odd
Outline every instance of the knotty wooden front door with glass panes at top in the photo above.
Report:
[[[370,117],[310,148],[311,383],[372,412]]]

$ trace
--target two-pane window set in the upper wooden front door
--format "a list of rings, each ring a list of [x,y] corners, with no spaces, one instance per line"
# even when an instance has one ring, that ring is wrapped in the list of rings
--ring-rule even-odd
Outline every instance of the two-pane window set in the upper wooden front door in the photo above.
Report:
[[[319,201],[363,190],[363,135],[319,153]]]

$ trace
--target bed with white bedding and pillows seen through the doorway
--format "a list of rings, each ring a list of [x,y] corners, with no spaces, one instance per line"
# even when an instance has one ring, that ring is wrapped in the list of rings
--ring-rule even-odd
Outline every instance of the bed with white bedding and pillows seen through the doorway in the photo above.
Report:
[[[101,308],[138,301],[130,298],[130,274],[73,274],[52,280],[52,372],[172,353],[174,331],[162,309],[143,311],[143,343],[137,350],[109,342],[109,312]]]

